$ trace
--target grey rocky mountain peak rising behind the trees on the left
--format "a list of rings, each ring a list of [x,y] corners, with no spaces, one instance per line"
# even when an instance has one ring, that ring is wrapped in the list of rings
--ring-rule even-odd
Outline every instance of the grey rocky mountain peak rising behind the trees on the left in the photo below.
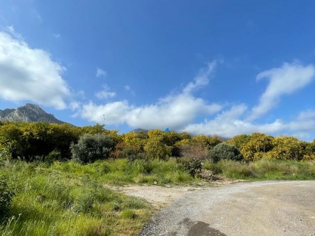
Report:
[[[65,122],[54,117],[53,114],[46,113],[38,105],[27,103],[17,109],[0,110],[0,120],[40,122],[63,124]]]

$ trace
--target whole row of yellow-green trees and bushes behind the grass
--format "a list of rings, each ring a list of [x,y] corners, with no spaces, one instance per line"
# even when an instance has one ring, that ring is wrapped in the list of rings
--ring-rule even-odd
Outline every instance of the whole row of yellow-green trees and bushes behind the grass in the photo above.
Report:
[[[260,159],[315,160],[315,140],[304,142],[293,136],[273,137],[263,133],[237,135],[227,141],[219,136],[150,130],[118,134],[103,125],[77,127],[47,122],[0,122],[0,150],[26,161],[74,159],[90,163],[96,159],[162,159],[188,157],[255,161]],[[0,154],[1,155],[1,154]]]

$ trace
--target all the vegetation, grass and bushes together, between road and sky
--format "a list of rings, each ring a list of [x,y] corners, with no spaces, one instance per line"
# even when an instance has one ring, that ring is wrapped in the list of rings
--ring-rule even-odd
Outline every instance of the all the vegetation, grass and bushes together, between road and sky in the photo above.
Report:
[[[218,136],[102,125],[0,121],[0,236],[127,236],[154,212],[104,186],[180,185],[210,175],[315,179],[315,140],[262,133]],[[209,178],[208,178],[209,177]]]

